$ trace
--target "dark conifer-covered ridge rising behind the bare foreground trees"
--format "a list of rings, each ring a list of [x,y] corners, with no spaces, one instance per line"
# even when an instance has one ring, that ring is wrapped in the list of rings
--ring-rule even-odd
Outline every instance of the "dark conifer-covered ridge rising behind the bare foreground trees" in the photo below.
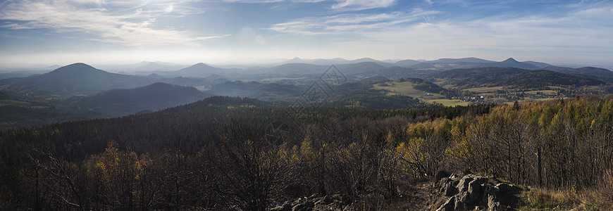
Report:
[[[330,105],[334,106],[334,105]],[[8,141],[17,136],[22,140],[31,140],[41,144],[56,144],[58,155],[63,153],[84,153],[68,155],[67,158],[85,158],[89,153],[97,153],[104,149],[108,139],[115,139],[120,144],[133,147],[140,152],[171,146],[174,141],[180,140],[186,144],[184,150],[197,151],[204,144],[204,140],[219,140],[225,132],[231,132],[233,124],[242,122],[245,125],[259,125],[261,132],[273,122],[285,122],[286,127],[296,127],[298,120],[316,122],[328,117],[340,120],[355,117],[368,119],[383,119],[396,115],[404,115],[411,119],[424,120],[435,117],[457,117],[466,113],[487,113],[492,106],[466,106],[445,108],[432,106],[429,108],[404,108],[397,110],[378,110],[365,108],[337,108],[321,106],[320,108],[305,107],[300,113],[297,108],[288,107],[287,103],[275,104],[260,101],[254,98],[212,96],[202,101],[190,103],[185,106],[168,108],[159,112],[142,115],[130,115],[103,120],[83,120],[78,122],[64,122],[51,124],[41,128],[16,129],[0,133],[1,140]],[[61,133],[54,132],[56,129]],[[294,128],[295,129],[295,128]],[[258,130],[258,129],[254,129]],[[53,135],[52,143],[37,139],[35,136],[25,138],[29,132],[38,131],[44,136]],[[22,136],[25,135],[25,136]],[[11,138],[13,137],[13,138]],[[57,138],[57,139],[56,139]],[[44,139],[47,140],[47,139]],[[15,141],[15,140],[13,140]],[[86,143],[82,142],[86,141]],[[74,148],[65,151],[62,148],[68,144]],[[92,146],[89,146],[92,144]],[[93,147],[96,146],[96,147]],[[83,148],[81,148],[83,147]],[[85,150],[85,151],[84,151]],[[91,150],[91,151],[89,151]]]

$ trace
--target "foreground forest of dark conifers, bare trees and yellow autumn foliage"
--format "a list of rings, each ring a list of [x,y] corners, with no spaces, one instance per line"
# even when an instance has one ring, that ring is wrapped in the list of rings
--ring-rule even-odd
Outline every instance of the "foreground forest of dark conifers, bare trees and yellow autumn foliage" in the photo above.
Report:
[[[0,209],[270,210],[337,195],[355,210],[390,210],[441,170],[611,208],[613,99],[297,110],[214,96],[13,129],[0,133]]]

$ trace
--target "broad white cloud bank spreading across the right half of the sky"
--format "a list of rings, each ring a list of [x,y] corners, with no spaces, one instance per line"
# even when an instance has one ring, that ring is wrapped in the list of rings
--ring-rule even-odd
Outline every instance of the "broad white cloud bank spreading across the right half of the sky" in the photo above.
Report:
[[[466,15],[415,9],[409,13],[343,13],[271,25],[333,46],[338,56],[440,58],[515,55],[527,59],[607,59],[613,56],[613,5],[591,4],[556,13]],[[444,17],[444,18],[442,18]]]

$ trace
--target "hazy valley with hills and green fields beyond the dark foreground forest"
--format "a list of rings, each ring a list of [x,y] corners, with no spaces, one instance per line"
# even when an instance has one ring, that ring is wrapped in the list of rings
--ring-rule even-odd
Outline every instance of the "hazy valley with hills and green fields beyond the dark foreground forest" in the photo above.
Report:
[[[513,58],[502,62],[479,58],[395,63],[369,58],[294,62],[307,61],[295,58],[268,68],[244,69],[215,68],[204,63],[186,68],[166,63],[125,66],[124,70],[136,71],[136,75],[127,75],[125,71],[111,73],[75,63],[38,75],[0,79],[0,105],[24,108],[26,113],[49,110],[58,115],[70,113],[67,116],[78,116],[78,119],[42,115],[50,119],[28,118],[28,123],[28,120],[6,117],[0,121],[2,128],[8,129],[41,125],[35,122],[118,117],[192,103],[206,96],[242,96],[290,104],[300,100],[311,85],[324,86],[326,82],[321,77],[330,65],[338,68],[342,82],[347,84],[338,84],[333,89],[323,87],[326,106],[383,109],[468,106],[586,94],[605,96],[613,91],[613,77],[609,77],[611,74],[607,72],[611,71],[606,69],[562,68],[545,63],[522,63]],[[121,66],[111,68],[122,70]],[[196,87],[199,91],[187,87]]]

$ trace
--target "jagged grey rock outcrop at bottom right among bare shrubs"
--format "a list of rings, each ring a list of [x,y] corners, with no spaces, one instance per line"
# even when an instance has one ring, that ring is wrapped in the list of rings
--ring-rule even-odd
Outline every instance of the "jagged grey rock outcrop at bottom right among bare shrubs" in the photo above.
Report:
[[[490,182],[488,177],[468,174],[459,181],[440,179],[440,193],[450,198],[437,211],[442,210],[507,210],[500,199],[519,193],[521,188],[510,184]]]

